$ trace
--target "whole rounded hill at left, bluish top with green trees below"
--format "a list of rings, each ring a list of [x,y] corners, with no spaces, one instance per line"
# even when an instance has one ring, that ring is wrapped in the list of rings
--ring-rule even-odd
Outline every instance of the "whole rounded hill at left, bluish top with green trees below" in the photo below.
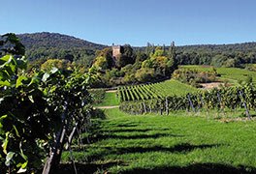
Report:
[[[25,45],[26,57],[31,62],[36,61],[35,64],[41,64],[46,59],[66,59],[89,67],[95,51],[107,46],[48,32],[19,34],[17,37]]]

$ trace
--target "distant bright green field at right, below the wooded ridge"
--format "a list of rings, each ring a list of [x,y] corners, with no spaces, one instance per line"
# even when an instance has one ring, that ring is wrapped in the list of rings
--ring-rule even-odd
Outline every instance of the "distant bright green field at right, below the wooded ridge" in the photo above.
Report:
[[[212,67],[208,67],[208,66],[189,65],[189,66],[180,66],[180,68],[194,69],[200,72],[212,71]],[[223,80],[227,79],[230,82],[237,83],[239,80],[244,80],[248,75],[250,75],[253,77],[253,83],[256,83],[256,72],[247,71],[239,68],[215,68],[215,69],[217,70],[217,73],[221,74],[220,79],[223,79]]]

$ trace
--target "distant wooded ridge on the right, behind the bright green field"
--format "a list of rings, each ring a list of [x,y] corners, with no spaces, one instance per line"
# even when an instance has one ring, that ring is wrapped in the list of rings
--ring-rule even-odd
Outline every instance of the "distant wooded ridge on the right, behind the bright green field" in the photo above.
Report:
[[[212,65],[242,68],[255,64],[256,43],[206,44],[176,47],[178,65]]]

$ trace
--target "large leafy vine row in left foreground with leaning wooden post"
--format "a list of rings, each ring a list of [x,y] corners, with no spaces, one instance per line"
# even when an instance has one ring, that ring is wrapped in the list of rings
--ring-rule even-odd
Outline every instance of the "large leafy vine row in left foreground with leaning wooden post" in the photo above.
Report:
[[[90,125],[93,74],[27,74],[24,52],[15,34],[0,36],[0,171],[54,173],[64,148]]]

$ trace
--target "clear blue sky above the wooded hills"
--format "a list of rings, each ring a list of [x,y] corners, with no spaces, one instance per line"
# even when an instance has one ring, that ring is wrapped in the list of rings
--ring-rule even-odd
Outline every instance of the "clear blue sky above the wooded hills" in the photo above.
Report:
[[[0,0],[0,34],[55,32],[94,43],[256,41],[255,0]]]

